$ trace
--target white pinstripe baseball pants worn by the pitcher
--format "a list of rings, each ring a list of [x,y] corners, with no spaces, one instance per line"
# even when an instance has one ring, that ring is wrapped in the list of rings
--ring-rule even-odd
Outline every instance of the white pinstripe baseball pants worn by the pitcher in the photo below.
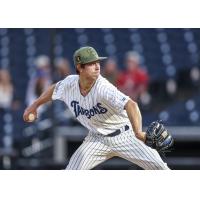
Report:
[[[114,156],[146,170],[169,169],[158,152],[137,139],[130,129],[114,137],[90,132],[72,155],[66,169],[89,170]]]

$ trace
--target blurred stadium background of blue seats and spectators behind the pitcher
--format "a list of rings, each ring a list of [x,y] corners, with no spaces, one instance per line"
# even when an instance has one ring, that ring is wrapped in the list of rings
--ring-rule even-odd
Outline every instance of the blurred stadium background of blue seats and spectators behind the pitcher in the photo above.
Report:
[[[200,169],[200,29],[0,29],[0,169],[64,169],[87,134],[63,102],[23,112],[75,73],[73,52],[108,56],[101,73],[138,102],[143,125],[161,119],[175,139],[171,169]],[[140,169],[113,158],[95,169]]]

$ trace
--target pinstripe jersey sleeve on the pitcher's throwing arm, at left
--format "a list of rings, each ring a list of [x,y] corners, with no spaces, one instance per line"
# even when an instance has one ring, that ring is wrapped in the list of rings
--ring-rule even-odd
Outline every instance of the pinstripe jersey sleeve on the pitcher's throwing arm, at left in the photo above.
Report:
[[[66,96],[66,81],[65,79],[56,83],[53,91],[52,100],[64,101]]]

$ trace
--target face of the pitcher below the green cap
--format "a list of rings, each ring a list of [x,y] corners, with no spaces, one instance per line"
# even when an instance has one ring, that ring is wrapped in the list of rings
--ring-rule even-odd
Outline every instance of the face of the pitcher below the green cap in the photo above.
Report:
[[[85,78],[97,79],[100,74],[100,63],[95,61],[92,63],[85,64],[84,68],[81,68],[80,75]]]

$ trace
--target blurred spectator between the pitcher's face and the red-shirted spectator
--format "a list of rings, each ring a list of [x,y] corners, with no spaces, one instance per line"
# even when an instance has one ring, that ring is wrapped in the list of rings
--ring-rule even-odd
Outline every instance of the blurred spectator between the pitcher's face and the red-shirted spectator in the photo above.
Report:
[[[113,58],[109,58],[103,68],[103,76],[109,80],[113,85],[116,85],[118,68],[117,62]]]

